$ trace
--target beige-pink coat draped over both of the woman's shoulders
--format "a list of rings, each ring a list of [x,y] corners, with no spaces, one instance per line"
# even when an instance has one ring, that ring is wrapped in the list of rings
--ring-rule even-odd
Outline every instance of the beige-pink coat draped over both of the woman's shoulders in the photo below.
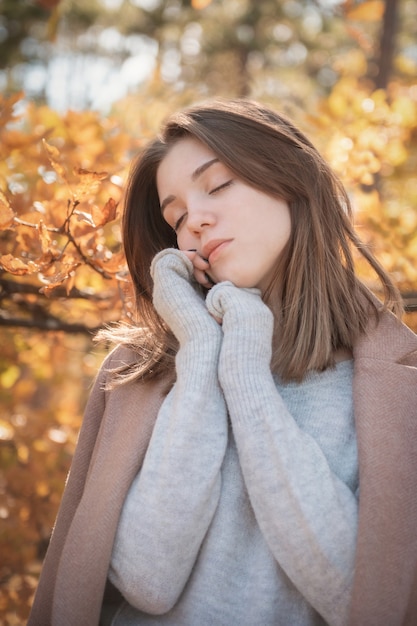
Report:
[[[99,623],[121,507],[164,381],[91,393],[28,626]],[[417,337],[390,314],[354,350],[360,504],[351,626],[417,625]],[[331,523],[331,520],[329,520]]]

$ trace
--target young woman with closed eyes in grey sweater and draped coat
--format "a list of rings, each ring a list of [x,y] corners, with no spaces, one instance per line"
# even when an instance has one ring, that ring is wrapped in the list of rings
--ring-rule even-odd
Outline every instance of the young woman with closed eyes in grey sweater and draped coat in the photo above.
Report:
[[[260,104],[196,106],[134,164],[123,230],[138,323],[29,624],[416,624],[417,338],[329,166]]]

